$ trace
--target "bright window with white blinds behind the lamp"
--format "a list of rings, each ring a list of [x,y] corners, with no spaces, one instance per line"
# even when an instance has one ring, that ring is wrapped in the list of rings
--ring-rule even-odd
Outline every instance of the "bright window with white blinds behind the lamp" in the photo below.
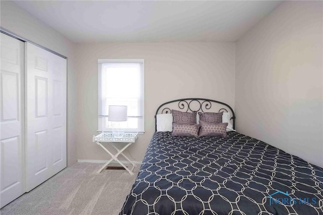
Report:
[[[98,60],[98,130],[112,130],[109,105],[128,106],[125,131],[144,132],[144,60]]]

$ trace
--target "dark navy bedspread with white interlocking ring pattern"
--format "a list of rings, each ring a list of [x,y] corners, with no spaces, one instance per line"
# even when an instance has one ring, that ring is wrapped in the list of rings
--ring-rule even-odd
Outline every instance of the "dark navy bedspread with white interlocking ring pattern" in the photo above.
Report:
[[[323,169],[237,132],[155,132],[120,214],[323,214]]]

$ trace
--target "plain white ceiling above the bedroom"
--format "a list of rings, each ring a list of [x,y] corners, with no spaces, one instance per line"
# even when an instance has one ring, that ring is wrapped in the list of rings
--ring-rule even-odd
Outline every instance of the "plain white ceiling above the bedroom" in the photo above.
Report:
[[[15,3],[74,42],[233,42],[281,1]]]

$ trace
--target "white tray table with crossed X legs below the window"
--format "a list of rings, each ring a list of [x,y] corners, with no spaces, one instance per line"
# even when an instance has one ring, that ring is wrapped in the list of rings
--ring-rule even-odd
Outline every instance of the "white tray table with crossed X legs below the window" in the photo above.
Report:
[[[123,137],[114,137],[111,132],[104,132],[101,133],[97,136],[93,136],[93,142],[95,142],[97,145],[101,146],[101,148],[104,149],[108,154],[110,154],[111,159],[106,162],[97,173],[100,173],[102,170],[104,170],[113,160],[116,160],[125,170],[129,172],[130,175],[133,175],[134,173],[132,172],[133,169],[136,167],[136,165],[123,153],[123,151],[128,148],[132,143],[136,141],[138,137],[138,133],[125,133]],[[116,150],[117,153],[113,154],[111,151],[109,151],[106,147],[104,147],[101,143],[109,143],[111,146],[113,146]],[[116,143],[127,143],[122,149],[119,149],[116,146]],[[132,164],[132,169],[129,170],[121,161],[118,159],[119,155],[122,155]]]

